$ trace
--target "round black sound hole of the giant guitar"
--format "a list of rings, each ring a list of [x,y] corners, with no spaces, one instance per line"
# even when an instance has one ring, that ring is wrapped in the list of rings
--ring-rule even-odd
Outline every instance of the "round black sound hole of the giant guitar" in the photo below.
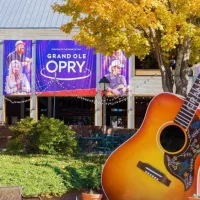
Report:
[[[165,151],[175,153],[183,148],[185,134],[178,126],[170,125],[163,129],[160,135],[160,143]]]

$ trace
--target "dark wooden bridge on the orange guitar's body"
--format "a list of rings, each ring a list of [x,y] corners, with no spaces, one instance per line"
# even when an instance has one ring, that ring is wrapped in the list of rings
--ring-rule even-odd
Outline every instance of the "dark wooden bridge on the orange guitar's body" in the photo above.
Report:
[[[155,180],[169,187],[171,181],[163,173],[159,172],[157,169],[153,168],[151,165],[139,161],[137,164],[137,167],[140,168],[143,172],[147,173],[152,178],[154,178]]]

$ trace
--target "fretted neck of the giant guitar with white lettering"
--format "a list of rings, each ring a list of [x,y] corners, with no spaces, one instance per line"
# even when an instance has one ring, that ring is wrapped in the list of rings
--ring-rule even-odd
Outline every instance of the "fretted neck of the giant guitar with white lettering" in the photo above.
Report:
[[[188,96],[184,100],[183,105],[175,118],[175,122],[187,129],[192,121],[195,112],[200,104],[200,74],[193,84]]]

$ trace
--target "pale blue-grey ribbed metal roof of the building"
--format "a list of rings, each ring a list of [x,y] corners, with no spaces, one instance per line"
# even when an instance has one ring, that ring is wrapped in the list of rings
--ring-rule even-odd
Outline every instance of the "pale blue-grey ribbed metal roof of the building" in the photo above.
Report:
[[[51,5],[62,0],[0,0],[0,29],[60,28],[71,17],[54,13]]]

